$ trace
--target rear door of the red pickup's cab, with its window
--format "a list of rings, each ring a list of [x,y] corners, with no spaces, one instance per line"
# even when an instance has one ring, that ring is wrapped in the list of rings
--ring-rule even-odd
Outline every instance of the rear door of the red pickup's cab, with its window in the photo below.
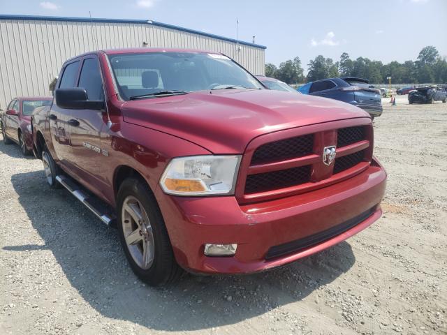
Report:
[[[59,80],[58,88],[68,89],[75,87],[78,81],[79,68],[79,59],[66,64],[61,71],[62,76],[61,80]],[[54,101],[49,118],[54,151],[56,151],[57,158],[61,161],[61,164],[70,168],[71,139],[68,120],[71,119],[71,110],[60,108],[57,106],[56,101]]]

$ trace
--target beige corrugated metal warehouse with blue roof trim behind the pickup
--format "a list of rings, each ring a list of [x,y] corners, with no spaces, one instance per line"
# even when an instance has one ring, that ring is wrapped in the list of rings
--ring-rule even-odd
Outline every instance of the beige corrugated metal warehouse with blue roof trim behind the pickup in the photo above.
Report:
[[[71,57],[119,47],[179,47],[223,52],[264,74],[265,47],[151,20],[0,15],[0,108],[15,96],[47,96]]]

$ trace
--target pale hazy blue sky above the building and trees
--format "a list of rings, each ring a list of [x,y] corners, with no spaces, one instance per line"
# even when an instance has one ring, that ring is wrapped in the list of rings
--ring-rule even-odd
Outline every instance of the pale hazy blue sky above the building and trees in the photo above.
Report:
[[[0,14],[154,20],[265,45],[277,66],[318,54],[383,63],[415,60],[437,47],[447,57],[447,0],[0,0]]]

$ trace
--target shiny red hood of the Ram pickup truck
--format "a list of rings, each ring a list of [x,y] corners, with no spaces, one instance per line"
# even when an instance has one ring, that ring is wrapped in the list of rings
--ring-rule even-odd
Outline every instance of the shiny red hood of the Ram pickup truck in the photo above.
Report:
[[[340,119],[369,117],[328,98],[256,90],[198,91],[127,101],[125,122],[182,137],[214,154],[242,154],[259,135]]]

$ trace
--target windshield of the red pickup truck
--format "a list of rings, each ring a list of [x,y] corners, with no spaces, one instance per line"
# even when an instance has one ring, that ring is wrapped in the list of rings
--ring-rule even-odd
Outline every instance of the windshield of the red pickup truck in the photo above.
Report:
[[[108,57],[124,100],[211,89],[263,88],[247,70],[221,54],[146,52]]]

